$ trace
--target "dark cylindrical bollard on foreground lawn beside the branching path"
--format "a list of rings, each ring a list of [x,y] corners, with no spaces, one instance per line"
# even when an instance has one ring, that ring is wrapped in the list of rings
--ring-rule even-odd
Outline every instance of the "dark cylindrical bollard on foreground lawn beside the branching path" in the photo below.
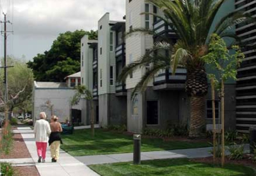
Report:
[[[141,163],[141,135],[134,134],[133,135],[133,164]]]

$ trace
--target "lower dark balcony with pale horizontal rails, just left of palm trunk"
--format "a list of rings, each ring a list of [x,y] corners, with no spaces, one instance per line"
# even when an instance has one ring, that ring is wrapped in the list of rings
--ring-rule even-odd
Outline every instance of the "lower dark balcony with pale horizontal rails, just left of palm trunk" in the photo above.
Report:
[[[187,70],[178,68],[175,75],[172,70],[163,70],[154,78],[154,90],[183,90],[185,88]]]

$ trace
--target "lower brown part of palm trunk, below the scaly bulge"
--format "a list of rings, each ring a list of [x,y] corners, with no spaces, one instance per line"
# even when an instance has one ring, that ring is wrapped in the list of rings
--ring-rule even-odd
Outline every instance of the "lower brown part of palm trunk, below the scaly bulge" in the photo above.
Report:
[[[189,137],[199,138],[205,128],[205,97],[193,95],[190,98],[191,118]]]

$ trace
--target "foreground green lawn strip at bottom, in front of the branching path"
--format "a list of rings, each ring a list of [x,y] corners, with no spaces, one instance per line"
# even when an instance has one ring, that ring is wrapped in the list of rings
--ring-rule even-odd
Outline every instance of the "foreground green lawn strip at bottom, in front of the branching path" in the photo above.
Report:
[[[132,163],[99,164],[89,166],[102,176],[255,176],[253,168],[227,164],[225,168],[195,163],[188,159],[164,159]]]

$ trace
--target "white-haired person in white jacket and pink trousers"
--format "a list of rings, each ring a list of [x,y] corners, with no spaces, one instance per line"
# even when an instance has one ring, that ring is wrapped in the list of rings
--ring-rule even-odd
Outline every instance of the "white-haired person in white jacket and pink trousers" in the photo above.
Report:
[[[40,113],[40,120],[36,121],[34,127],[36,148],[38,154],[38,163],[45,163],[46,149],[48,137],[51,134],[51,127],[49,122],[45,120],[46,114],[44,112]]]

